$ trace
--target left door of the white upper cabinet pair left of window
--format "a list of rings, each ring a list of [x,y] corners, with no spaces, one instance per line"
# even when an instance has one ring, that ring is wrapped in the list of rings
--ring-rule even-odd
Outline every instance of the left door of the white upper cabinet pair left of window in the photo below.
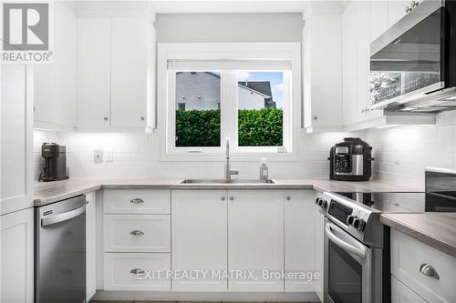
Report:
[[[78,127],[109,127],[110,33],[110,18],[78,18]]]

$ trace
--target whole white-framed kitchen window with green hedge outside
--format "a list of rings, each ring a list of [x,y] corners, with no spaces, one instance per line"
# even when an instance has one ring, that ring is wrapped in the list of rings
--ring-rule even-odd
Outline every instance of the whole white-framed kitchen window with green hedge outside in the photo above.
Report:
[[[234,154],[292,154],[299,56],[293,43],[159,45],[163,154],[220,154],[226,138]]]

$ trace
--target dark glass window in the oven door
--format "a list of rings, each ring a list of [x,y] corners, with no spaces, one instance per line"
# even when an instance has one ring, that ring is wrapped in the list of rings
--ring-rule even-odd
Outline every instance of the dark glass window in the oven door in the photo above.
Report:
[[[328,294],[334,303],[361,303],[362,266],[329,241]]]

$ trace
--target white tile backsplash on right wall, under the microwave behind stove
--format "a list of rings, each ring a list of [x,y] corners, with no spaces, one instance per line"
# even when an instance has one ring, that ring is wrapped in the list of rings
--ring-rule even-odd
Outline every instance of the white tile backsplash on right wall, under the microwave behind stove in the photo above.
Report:
[[[435,126],[370,129],[357,135],[373,146],[373,170],[381,179],[424,188],[424,167],[456,168],[456,111]]]

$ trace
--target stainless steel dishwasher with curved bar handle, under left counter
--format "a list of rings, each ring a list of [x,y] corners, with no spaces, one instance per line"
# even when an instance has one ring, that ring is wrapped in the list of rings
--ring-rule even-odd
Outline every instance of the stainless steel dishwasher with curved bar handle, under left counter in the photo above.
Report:
[[[35,208],[35,302],[86,302],[86,196]]]

